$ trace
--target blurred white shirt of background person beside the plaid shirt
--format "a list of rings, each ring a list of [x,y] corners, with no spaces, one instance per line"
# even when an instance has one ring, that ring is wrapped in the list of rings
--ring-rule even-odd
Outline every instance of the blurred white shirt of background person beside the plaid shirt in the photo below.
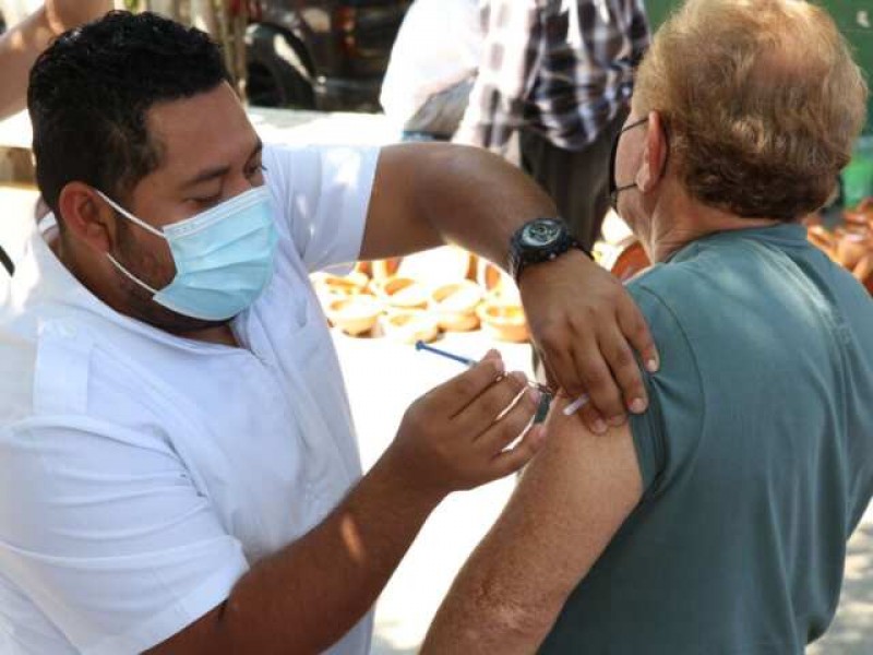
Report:
[[[382,83],[388,119],[403,126],[429,97],[474,75],[482,43],[480,0],[416,0]]]

